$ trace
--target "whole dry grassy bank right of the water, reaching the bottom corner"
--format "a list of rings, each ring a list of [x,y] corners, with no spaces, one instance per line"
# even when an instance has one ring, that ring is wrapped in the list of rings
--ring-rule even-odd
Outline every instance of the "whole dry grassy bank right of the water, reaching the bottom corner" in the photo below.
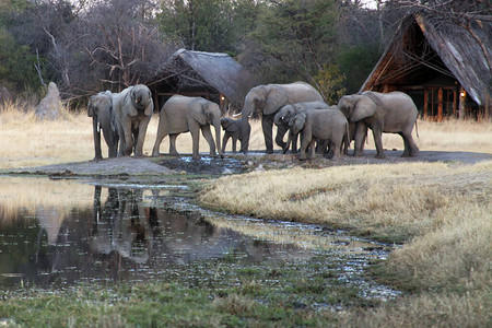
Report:
[[[201,195],[234,213],[405,242],[372,270],[409,295],[350,311],[349,327],[492,324],[492,162],[292,168],[222,177]]]

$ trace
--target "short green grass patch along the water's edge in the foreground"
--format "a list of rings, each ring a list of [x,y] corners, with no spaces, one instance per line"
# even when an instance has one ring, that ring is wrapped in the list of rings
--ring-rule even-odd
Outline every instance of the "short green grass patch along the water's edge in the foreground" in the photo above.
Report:
[[[374,306],[339,279],[343,259],[183,266],[156,281],[0,292],[0,323],[23,327],[326,327],[333,308]],[[179,272],[176,274],[176,272]]]

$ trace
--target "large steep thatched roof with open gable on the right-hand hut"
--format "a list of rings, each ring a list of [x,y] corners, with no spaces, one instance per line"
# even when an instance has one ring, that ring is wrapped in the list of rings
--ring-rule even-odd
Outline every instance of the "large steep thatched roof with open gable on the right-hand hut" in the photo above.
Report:
[[[471,21],[468,30],[422,14],[403,20],[361,91],[376,90],[384,84],[425,83],[441,74],[458,80],[478,105],[490,106],[491,19]],[[424,43],[419,44],[419,34],[423,35]]]

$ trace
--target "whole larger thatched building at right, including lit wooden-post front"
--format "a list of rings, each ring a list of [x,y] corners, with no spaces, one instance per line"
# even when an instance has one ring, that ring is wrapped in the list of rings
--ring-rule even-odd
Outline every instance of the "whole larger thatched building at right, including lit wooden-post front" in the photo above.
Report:
[[[468,26],[415,14],[399,31],[361,91],[399,90],[421,115],[489,117],[492,109],[492,17]]]

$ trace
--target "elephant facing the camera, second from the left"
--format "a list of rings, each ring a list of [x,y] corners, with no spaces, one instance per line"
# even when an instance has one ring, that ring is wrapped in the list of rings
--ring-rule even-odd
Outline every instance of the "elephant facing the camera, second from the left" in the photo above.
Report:
[[[147,127],[154,112],[152,93],[143,84],[129,86],[113,96],[113,110],[119,134],[118,156],[143,157]]]

